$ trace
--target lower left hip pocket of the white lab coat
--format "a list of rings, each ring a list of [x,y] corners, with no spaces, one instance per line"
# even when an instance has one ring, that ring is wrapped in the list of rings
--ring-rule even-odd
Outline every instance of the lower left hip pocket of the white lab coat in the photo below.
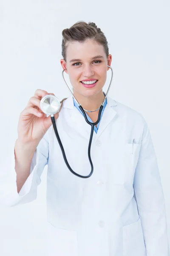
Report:
[[[54,227],[47,222],[49,256],[78,256],[77,231]]]

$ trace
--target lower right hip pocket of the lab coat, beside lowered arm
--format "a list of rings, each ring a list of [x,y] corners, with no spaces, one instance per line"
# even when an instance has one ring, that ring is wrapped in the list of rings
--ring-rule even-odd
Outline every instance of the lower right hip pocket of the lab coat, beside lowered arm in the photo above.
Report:
[[[146,256],[140,217],[123,227],[123,256]]]

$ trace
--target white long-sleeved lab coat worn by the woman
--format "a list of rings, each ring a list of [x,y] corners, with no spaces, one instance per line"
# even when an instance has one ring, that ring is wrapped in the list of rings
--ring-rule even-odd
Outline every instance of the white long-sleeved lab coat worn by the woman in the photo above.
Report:
[[[91,145],[90,178],[68,170],[51,125],[19,195],[13,168],[2,201],[14,206],[36,199],[48,160],[48,256],[170,256],[164,195],[148,125],[137,111],[110,97],[107,101]],[[71,168],[88,175],[91,126],[74,107],[72,96],[63,104],[57,129]]]

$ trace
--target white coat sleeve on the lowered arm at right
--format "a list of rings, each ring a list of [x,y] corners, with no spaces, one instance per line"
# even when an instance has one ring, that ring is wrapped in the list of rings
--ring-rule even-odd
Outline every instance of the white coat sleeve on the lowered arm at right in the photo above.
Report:
[[[145,120],[141,144],[133,187],[147,256],[170,256],[161,177],[150,131]]]

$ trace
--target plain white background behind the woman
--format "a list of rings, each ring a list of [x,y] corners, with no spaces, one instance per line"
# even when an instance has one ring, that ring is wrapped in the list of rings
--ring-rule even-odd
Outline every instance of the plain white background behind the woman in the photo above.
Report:
[[[59,63],[62,30],[79,20],[94,22],[105,33],[113,56],[109,96],[142,113],[149,125],[170,238],[169,14],[168,0],[0,2],[0,171],[8,168],[20,112],[34,91],[47,90],[60,100],[70,95]],[[107,86],[108,81],[104,91]],[[0,206],[1,256],[45,256],[46,171],[47,166],[36,201]]]

